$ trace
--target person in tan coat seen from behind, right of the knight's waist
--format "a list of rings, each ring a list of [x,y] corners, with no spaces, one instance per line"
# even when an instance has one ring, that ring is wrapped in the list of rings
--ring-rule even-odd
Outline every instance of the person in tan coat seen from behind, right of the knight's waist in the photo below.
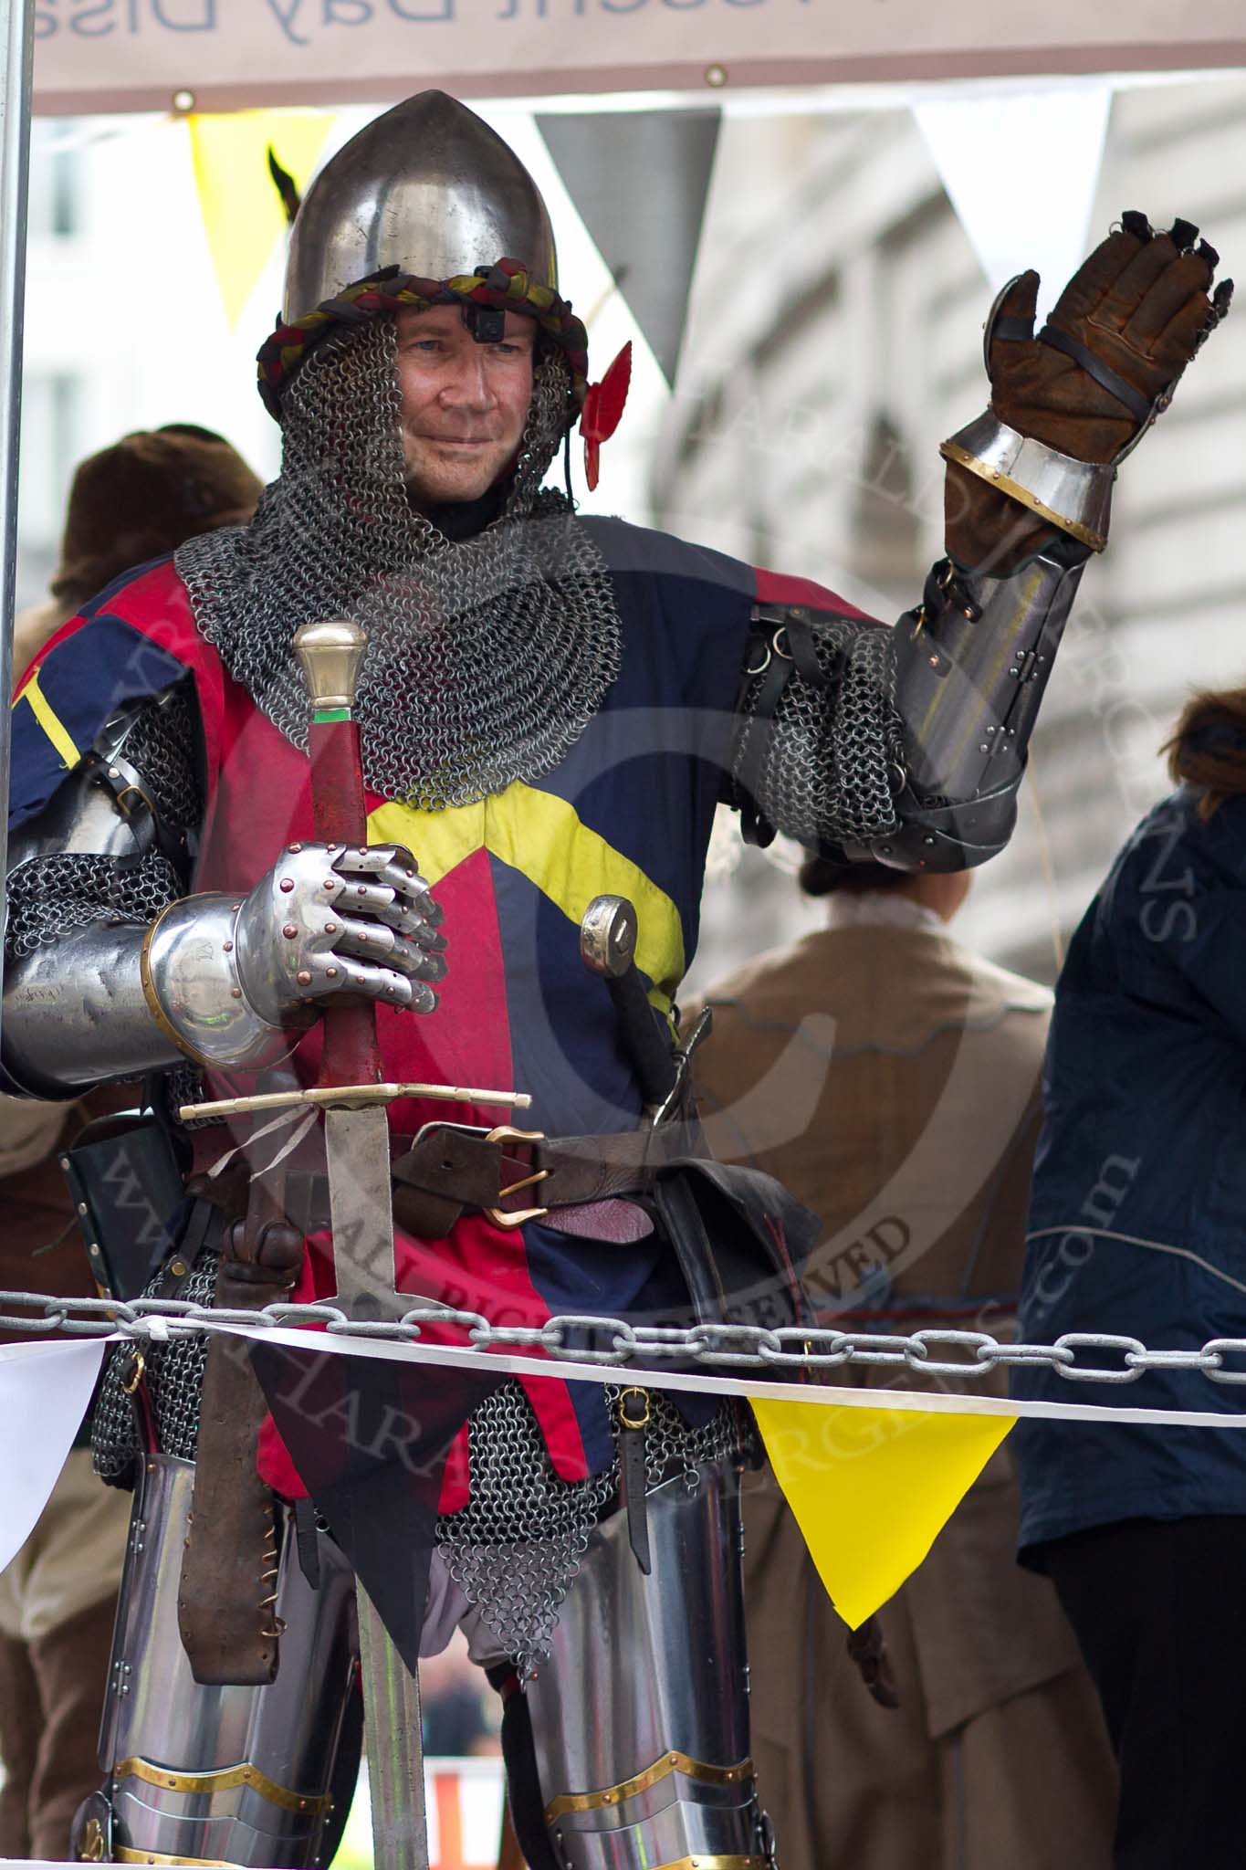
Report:
[[[811,858],[801,886],[828,896],[828,928],[706,995],[697,1088],[714,1154],[822,1217],[807,1275],[820,1322],[1009,1335],[1052,995],[953,939],[968,871]],[[867,1365],[829,1380],[938,1382]],[[996,1378],[943,1388],[1005,1393]],[[1016,1565],[1016,1518],[1005,1442],[878,1614],[899,1694],[885,1707],[773,1475],[753,1477],[753,1754],[785,1870],[1108,1870],[1108,1737],[1054,1591]]]

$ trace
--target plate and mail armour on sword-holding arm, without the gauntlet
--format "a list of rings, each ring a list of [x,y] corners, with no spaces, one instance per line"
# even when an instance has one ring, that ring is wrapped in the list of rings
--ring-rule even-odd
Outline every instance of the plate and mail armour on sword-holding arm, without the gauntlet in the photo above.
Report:
[[[234,903],[185,894],[202,815],[181,681],[120,709],[13,832],[0,1088],[73,1098],[187,1058],[271,1060],[273,1027],[234,993]]]

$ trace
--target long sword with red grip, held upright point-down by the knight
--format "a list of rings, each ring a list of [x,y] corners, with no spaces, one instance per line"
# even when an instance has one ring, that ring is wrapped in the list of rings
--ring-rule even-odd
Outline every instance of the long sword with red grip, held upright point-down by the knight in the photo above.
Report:
[[[368,842],[355,683],[368,649],[357,623],[304,623],[293,649],[312,701],[312,815],[323,843]],[[375,1006],[342,995],[325,1008],[319,1090],[381,1083]],[[398,1316],[394,1214],[385,1103],[325,1107],[329,1217],[338,1303],[351,1318]],[[364,1690],[372,1846],[377,1870],[428,1870],[418,1676],[407,1670],[362,1584],[359,1662]]]

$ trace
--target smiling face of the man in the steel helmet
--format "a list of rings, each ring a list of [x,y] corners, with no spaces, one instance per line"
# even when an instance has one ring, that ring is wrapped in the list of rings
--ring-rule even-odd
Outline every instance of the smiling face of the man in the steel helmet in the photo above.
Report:
[[[422,507],[480,499],[519,447],[536,325],[506,312],[501,340],[476,344],[458,305],[400,310],[394,324],[411,494]]]

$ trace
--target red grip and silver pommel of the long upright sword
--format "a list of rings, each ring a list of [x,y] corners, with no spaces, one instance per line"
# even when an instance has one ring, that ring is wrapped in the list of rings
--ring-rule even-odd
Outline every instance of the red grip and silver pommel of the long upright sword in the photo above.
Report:
[[[323,843],[368,842],[368,800],[355,720],[355,686],[368,653],[368,638],[349,617],[304,623],[293,634],[293,653],[303,669],[312,720],[312,821]],[[340,995],[323,1014],[325,1051],[319,1083],[375,1085],[381,1051],[375,1006],[359,995]]]

